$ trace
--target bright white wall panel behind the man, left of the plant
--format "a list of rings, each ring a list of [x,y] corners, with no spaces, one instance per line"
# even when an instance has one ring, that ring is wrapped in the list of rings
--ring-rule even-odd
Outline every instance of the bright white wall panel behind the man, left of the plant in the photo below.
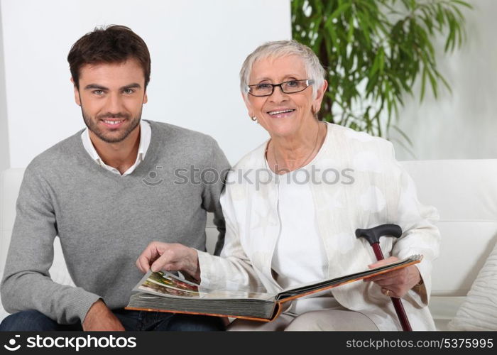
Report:
[[[231,163],[267,137],[246,114],[238,73],[257,45],[291,37],[290,0],[0,0],[0,6],[12,168],[84,127],[66,58],[72,43],[102,24],[129,26],[151,51],[143,119],[208,133]]]

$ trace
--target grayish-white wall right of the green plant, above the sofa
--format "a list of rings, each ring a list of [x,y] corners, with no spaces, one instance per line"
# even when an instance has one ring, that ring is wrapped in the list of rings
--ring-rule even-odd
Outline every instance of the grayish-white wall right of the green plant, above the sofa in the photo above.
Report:
[[[435,100],[428,92],[421,106],[408,99],[400,111],[399,126],[418,159],[497,158],[497,1],[469,2],[474,10],[465,11],[464,47],[443,55],[438,45],[440,71],[452,94],[442,90]],[[398,158],[412,159],[398,144],[395,148]]]

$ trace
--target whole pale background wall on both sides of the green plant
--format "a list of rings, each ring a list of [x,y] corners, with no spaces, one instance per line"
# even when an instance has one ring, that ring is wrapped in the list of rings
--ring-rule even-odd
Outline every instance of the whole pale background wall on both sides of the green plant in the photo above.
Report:
[[[442,89],[435,100],[427,92],[421,106],[407,98],[400,111],[399,126],[413,140],[416,158],[497,157],[497,1],[471,4],[464,48],[439,51],[452,94]],[[26,166],[84,126],[67,52],[94,26],[111,23],[133,28],[151,50],[143,118],[209,133],[234,163],[267,137],[241,100],[241,62],[257,45],[291,33],[290,0],[147,0],[139,6],[130,0],[0,0],[0,21],[0,169]],[[398,158],[413,158],[395,148]]]

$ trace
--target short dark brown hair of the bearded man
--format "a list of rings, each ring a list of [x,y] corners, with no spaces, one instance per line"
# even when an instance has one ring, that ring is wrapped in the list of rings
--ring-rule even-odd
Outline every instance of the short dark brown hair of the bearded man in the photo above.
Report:
[[[72,80],[80,88],[80,69],[85,64],[125,62],[137,60],[143,68],[145,87],[150,81],[151,60],[146,43],[126,26],[96,27],[72,45],[67,62]]]

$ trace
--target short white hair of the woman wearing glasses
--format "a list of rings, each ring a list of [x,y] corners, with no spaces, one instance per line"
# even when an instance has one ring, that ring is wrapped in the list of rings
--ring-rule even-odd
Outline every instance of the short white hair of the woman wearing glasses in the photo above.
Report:
[[[302,79],[314,80],[314,84],[312,85],[312,97],[315,98],[317,89],[322,87],[322,84],[324,83],[326,71],[322,67],[317,55],[315,55],[307,45],[298,43],[295,40],[275,40],[273,42],[266,42],[263,45],[259,45],[256,50],[249,54],[240,70],[240,89],[241,93],[244,94],[244,97],[248,94],[247,85],[249,85],[253,63],[268,57],[281,58],[287,55],[297,55],[302,59],[302,62],[304,62],[307,77]]]

